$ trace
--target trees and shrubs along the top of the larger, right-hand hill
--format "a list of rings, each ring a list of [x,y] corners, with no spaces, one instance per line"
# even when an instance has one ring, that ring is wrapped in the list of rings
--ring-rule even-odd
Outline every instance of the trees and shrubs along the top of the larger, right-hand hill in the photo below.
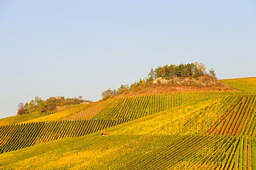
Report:
[[[210,75],[211,77],[216,77],[214,70],[211,69],[209,71],[209,74],[206,73],[206,67],[203,63],[188,63],[188,64],[171,64],[171,65],[165,65],[165,66],[158,66],[155,70],[151,69],[148,73],[148,78],[146,79],[140,79],[139,81],[135,81],[131,84],[129,87],[128,84],[124,85],[122,84],[117,90],[111,90],[108,88],[107,90],[104,90],[101,94],[102,99],[107,99],[111,96],[115,96],[118,94],[123,94],[126,91],[138,88],[140,86],[145,86],[145,84],[152,83],[157,78],[162,78],[165,80],[176,78],[186,78],[186,77],[193,77],[197,79],[198,77],[201,77],[202,75]]]

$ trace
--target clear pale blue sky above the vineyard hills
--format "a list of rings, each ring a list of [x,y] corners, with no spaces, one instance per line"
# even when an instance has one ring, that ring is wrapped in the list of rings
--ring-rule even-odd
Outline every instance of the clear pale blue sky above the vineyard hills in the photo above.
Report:
[[[36,96],[97,101],[192,62],[256,77],[256,1],[0,0],[0,118]]]

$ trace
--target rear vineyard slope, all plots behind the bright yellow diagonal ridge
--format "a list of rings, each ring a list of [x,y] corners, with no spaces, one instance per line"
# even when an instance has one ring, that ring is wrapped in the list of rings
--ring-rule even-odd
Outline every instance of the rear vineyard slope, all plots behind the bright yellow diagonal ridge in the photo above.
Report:
[[[61,138],[81,137],[146,116],[147,112],[153,114],[179,106],[180,96],[176,93],[117,98],[94,105],[72,107],[54,114],[36,116],[19,124],[0,126],[0,154]],[[166,98],[167,100],[164,100]],[[93,118],[93,115],[97,116]]]

